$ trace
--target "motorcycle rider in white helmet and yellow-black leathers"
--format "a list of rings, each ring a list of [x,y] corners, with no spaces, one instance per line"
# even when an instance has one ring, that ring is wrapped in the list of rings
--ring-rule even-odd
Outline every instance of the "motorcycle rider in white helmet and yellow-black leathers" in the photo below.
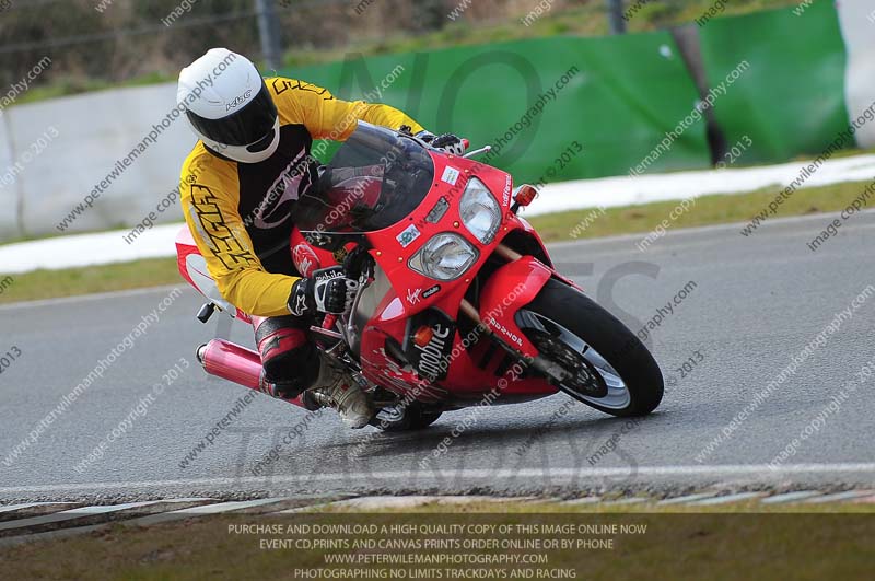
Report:
[[[348,426],[364,427],[374,410],[360,385],[319,357],[308,335],[317,312],[350,307],[357,281],[302,277],[290,251],[295,200],[318,195],[313,140],[343,141],[359,119],[409,126],[451,153],[464,152],[462,140],[435,138],[388,105],[341,101],[282,77],[262,79],[252,61],[225,48],[182,70],[177,105],[199,138],[182,170],[185,220],[219,292],[253,317],[261,391],[283,398],[304,393],[310,407],[334,407]]]

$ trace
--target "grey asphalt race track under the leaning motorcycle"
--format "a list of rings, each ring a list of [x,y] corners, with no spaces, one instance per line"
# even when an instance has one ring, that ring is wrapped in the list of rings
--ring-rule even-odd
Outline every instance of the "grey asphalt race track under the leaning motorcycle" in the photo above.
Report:
[[[220,317],[198,323],[200,301],[182,282],[184,294],[159,322],[50,416],[171,289],[0,307],[0,353],[21,351],[0,374],[0,501],[872,486],[875,377],[861,382],[860,372],[875,358],[875,287],[850,318],[821,332],[875,284],[875,213],[853,217],[838,237],[809,251],[806,243],[830,220],[772,221],[748,237],[738,225],[669,232],[645,252],[635,247],[641,235],[552,247],[561,269],[633,330],[687,288],[658,327],[651,325],[668,385],[657,412],[637,423],[564,405],[564,395],[477,416],[446,414],[429,430],[404,434],[347,430],[330,411],[305,421],[303,410],[261,395],[243,407],[235,403],[245,388],[209,380],[196,364],[195,348],[217,333]],[[250,330],[234,327],[232,338],[252,345]],[[805,351],[818,334],[821,345]],[[794,372],[757,398],[792,356],[801,361]],[[685,361],[690,371],[681,373]],[[148,397],[177,363],[179,377]],[[751,402],[759,404],[751,409]],[[180,467],[235,405],[237,416]],[[727,428],[746,406],[744,420]],[[47,416],[35,442],[11,456]],[[283,444],[296,426],[300,435]],[[114,428],[118,437],[103,456],[88,461]],[[434,457],[454,429],[462,434]],[[726,440],[707,449],[724,431]],[[794,454],[769,468],[788,446]]]

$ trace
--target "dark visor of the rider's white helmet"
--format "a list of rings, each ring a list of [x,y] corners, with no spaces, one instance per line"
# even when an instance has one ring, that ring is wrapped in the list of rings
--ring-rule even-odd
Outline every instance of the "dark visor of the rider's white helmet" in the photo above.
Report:
[[[187,111],[186,115],[198,131],[213,141],[224,146],[249,146],[265,139],[269,133],[272,137],[277,105],[273,104],[262,79],[261,89],[255,98],[228,117],[207,119],[191,111]]]

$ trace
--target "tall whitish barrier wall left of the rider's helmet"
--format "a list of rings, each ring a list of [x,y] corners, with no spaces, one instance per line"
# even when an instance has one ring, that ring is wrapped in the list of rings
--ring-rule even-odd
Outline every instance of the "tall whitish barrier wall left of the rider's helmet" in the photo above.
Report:
[[[21,171],[12,184],[3,186],[0,181],[0,242],[22,234],[61,234],[58,224],[95,185],[107,179],[117,161],[137,149],[153,126],[162,125],[175,101],[175,84],[167,83],[5,111],[0,124],[0,167],[19,160]],[[118,172],[93,207],[69,222],[63,233],[132,225],[155,210],[176,187],[183,160],[196,141],[182,115],[164,125],[155,142]],[[180,219],[174,206],[159,221]]]

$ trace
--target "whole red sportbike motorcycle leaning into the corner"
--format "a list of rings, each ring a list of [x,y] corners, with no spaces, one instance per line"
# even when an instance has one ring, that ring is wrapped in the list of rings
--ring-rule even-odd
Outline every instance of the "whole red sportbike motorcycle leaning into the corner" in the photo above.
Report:
[[[304,276],[359,280],[351,312],[311,330],[359,379],[384,430],[424,428],[442,412],[564,392],[614,416],[649,414],[663,377],[622,323],[557,272],[517,216],[536,196],[510,174],[431,149],[408,131],[363,121],[295,208],[290,252]],[[203,293],[198,318],[221,299],[187,230],[179,270]],[[205,370],[258,390],[257,352],[213,339]],[[290,400],[304,406],[301,397]]]

